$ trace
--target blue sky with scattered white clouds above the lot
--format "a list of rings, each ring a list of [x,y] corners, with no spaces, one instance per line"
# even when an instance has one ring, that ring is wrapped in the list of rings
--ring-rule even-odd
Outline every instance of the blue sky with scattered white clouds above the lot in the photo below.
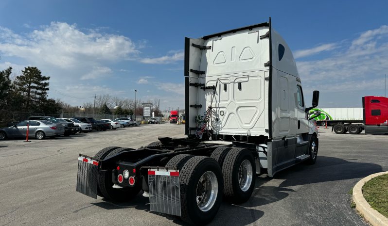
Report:
[[[307,105],[361,107],[384,96],[388,1],[1,0],[0,70],[51,76],[49,97],[74,106],[94,94],[160,98],[184,107],[184,37],[268,21],[297,61]],[[76,97],[76,98],[73,98]]]

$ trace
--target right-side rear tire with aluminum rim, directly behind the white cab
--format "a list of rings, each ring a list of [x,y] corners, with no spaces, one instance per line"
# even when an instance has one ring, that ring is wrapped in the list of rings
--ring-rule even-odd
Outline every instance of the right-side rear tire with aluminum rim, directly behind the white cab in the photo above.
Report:
[[[244,203],[255,188],[256,165],[248,149],[234,147],[226,155],[222,174],[224,194],[233,203]]]

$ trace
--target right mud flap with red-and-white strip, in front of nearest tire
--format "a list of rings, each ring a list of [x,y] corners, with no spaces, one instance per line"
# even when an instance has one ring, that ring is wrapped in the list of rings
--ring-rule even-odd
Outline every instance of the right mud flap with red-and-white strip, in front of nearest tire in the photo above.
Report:
[[[180,216],[179,172],[148,170],[150,210]]]

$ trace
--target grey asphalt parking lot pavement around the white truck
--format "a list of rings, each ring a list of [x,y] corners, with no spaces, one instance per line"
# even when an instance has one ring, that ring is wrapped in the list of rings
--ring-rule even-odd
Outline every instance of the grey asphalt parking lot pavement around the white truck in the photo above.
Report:
[[[183,125],[142,125],[57,139],[0,142],[0,225],[173,225],[179,218],[149,212],[139,194],[111,204],[75,191],[79,153],[106,146],[140,147],[158,136],[184,137]],[[360,179],[388,171],[387,136],[320,129],[315,165],[299,164],[257,178],[247,203],[223,203],[211,225],[367,225],[350,207]]]

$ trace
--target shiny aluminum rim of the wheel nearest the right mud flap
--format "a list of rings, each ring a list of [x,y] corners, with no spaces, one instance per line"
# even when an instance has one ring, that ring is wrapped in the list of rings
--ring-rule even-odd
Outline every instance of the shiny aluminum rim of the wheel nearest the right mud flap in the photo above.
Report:
[[[217,177],[212,171],[207,171],[199,178],[196,188],[198,208],[204,212],[212,209],[218,194]]]

